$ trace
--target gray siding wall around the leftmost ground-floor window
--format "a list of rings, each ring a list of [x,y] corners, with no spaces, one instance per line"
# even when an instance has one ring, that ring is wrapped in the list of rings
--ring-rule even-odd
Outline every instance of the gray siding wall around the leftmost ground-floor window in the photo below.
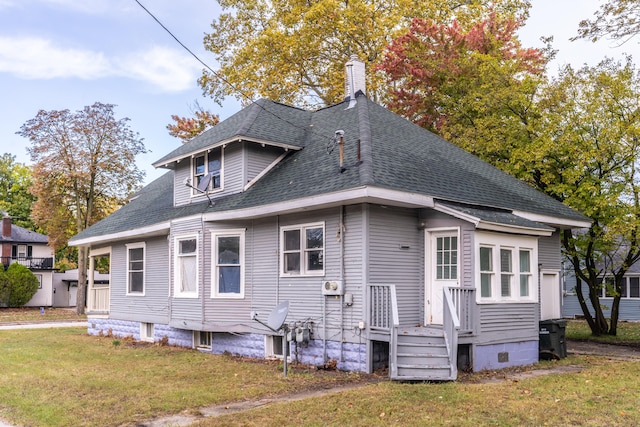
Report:
[[[130,243],[138,243],[132,241]],[[112,268],[110,280],[109,317],[149,323],[167,323],[169,320],[169,265],[168,242],[166,237],[156,237],[144,241],[144,295],[127,295],[127,248],[118,244],[111,249]]]

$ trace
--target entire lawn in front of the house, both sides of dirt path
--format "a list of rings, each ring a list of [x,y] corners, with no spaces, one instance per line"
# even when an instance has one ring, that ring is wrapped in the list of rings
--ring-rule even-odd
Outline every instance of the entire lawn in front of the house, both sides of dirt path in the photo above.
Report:
[[[567,336],[581,337],[588,329],[581,323],[568,322]],[[620,340],[640,343],[640,324],[621,323],[619,332]],[[559,373],[567,365],[581,371]],[[162,416],[199,414],[211,405],[347,383],[365,385],[196,425],[640,425],[640,362],[596,356],[520,368],[554,373],[519,380],[483,372],[465,374],[457,382],[367,384],[366,375],[300,367],[284,378],[277,363],[62,328],[0,331],[0,366],[0,418],[17,425],[133,426]],[[495,378],[500,380],[487,381]]]

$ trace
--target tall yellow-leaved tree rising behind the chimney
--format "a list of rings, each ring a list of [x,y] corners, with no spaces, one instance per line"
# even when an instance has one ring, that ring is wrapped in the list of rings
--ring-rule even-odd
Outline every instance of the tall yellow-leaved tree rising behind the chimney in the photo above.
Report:
[[[344,64],[355,54],[367,64],[367,95],[384,100],[376,73],[384,47],[414,17],[463,27],[486,17],[526,15],[526,0],[222,0],[223,12],[204,39],[220,64],[204,71],[203,91],[220,103],[256,96],[301,107],[344,98]]]

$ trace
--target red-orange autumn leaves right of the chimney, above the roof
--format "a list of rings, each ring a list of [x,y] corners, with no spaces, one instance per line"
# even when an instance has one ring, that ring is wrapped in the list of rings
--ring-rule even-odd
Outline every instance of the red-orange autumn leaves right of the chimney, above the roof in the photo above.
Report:
[[[541,74],[546,59],[523,48],[516,37],[521,22],[495,14],[464,30],[414,19],[409,31],[388,47],[379,70],[387,75],[388,106],[416,124],[440,131],[456,107],[475,90],[513,85],[523,74]],[[492,74],[493,73],[493,74]],[[481,92],[477,96],[482,96]],[[472,117],[469,117],[470,120]]]

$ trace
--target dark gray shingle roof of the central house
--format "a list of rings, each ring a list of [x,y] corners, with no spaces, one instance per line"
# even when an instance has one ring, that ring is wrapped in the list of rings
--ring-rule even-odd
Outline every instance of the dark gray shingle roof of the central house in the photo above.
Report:
[[[173,207],[173,172],[140,191],[120,210],[75,236],[95,237],[161,223],[186,215],[257,207],[370,185],[431,196],[477,209],[516,210],[588,221],[580,213],[420,128],[365,96],[354,108],[345,101],[315,112],[261,100],[158,160],[187,157],[232,138],[301,147],[243,193]],[[336,131],[344,131],[339,170]],[[361,163],[356,165],[358,143]],[[471,208],[469,208],[471,209]],[[476,212],[480,214],[480,212]],[[484,213],[486,214],[486,212]],[[506,223],[510,217],[494,216]],[[525,220],[523,220],[525,221]]]

